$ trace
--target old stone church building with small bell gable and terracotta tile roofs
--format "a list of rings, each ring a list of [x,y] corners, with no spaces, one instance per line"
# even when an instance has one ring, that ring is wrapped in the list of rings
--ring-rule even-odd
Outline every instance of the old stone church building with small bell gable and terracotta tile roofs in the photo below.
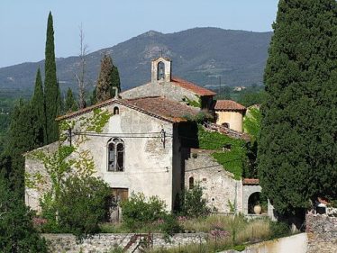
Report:
[[[232,212],[232,205],[234,212],[246,212],[249,195],[246,197],[242,181],[234,180],[210,151],[192,149],[197,147],[182,141],[181,132],[188,132],[191,124],[188,116],[194,117],[200,110],[216,113],[218,124],[228,123],[227,127],[242,131],[245,108],[230,101],[214,105],[214,95],[172,77],[169,59],[153,60],[150,83],[57,119],[64,138],[26,155],[26,182],[36,182],[26,185],[27,205],[39,210],[41,196],[51,187],[45,161],[33,154],[52,156],[60,147],[71,146],[74,151],[68,159],[92,166],[93,175],[110,185],[117,200],[132,192],[158,195],[170,211],[181,190],[198,181],[205,187],[212,210]],[[73,167],[74,173],[78,168],[83,173],[83,167]]]

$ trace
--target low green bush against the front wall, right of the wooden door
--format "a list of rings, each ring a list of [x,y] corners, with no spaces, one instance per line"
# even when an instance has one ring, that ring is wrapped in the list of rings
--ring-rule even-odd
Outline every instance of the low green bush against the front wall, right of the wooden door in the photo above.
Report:
[[[140,223],[158,221],[166,213],[166,204],[158,196],[145,198],[144,194],[134,194],[121,203],[123,222],[129,228],[135,228]]]

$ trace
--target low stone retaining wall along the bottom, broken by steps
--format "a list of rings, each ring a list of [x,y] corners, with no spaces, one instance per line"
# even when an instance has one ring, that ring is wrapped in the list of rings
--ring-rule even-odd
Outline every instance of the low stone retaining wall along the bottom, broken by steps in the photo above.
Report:
[[[84,239],[83,242],[77,244],[76,238],[71,234],[42,234],[50,242],[51,253],[108,253],[115,247],[124,248],[133,235],[97,234],[93,238]],[[163,234],[151,234],[151,237],[154,248],[173,248],[192,243],[205,243],[207,234],[176,234],[170,238],[165,238]],[[126,252],[132,252],[138,242],[139,239]]]

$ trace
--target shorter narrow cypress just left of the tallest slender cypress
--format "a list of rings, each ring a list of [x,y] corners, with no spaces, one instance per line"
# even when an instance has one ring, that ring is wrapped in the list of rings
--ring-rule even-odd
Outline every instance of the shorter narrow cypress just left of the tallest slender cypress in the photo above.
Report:
[[[36,73],[34,94],[31,100],[35,148],[47,143],[46,112],[40,68]]]

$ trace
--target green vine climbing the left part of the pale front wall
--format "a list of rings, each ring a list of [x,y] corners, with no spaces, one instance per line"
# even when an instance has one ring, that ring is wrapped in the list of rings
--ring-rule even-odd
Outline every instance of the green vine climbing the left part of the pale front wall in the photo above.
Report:
[[[78,125],[82,131],[102,132],[111,116],[112,113],[108,110],[98,108],[93,110],[91,117],[79,118],[78,123],[67,120],[59,122],[59,146],[56,150],[51,152],[46,149],[36,149],[27,155],[28,158],[41,162],[46,173],[44,175],[40,171],[25,173],[25,185],[41,193],[42,213],[44,212],[55,224],[58,223],[59,195],[68,176],[87,177],[96,172],[90,150],[79,148],[89,139],[85,135],[78,135],[72,141],[72,146],[65,145],[68,130]]]

